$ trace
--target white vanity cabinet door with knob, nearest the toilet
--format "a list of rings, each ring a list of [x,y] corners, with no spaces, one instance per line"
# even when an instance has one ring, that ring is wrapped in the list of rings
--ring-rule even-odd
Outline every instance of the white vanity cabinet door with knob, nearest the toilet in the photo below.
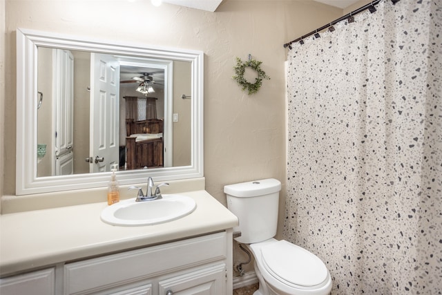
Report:
[[[158,295],[226,294],[226,265],[221,263],[175,276],[159,283]]]

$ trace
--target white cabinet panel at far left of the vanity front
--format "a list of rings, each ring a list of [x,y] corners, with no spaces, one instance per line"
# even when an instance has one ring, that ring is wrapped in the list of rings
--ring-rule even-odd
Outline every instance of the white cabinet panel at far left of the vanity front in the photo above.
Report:
[[[0,279],[1,295],[53,295],[55,294],[55,271],[45,269]]]

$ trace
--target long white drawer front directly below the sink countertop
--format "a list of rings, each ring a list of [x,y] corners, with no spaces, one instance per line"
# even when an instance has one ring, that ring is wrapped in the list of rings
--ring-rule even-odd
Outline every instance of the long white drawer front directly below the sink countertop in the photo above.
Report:
[[[65,265],[65,294],[83,294],[227,258],[227,234],[171,242]]]

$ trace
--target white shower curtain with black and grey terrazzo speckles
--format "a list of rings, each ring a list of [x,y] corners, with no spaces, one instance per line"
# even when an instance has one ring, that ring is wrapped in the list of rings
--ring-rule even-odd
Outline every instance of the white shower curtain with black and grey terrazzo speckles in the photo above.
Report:
[[[284,238],[332,294],[442,292],[442,1],[381,1],[287,57]]]

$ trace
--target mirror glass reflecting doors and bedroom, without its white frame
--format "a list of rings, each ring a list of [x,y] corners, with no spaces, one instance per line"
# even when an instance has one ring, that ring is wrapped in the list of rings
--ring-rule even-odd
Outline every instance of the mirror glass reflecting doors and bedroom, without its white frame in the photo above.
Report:
[[[46,146],[46,154],[37,157],[37,177],[110,171],[113,164],[119,170],[191,164],[191,102],[177,97],[175,103],[172,95],[164,95],[168,83],[177,93],[190,93],[189,61],[135,62],[124,56],[46,47],[37,51],[37,90],[45,97],[37,112],[37,142]],[[100,71],[94,69],[100,65],[115,81],[99,79]],[[177,82],[165,80],[166,70],[180,73]],[[101,108],[100,99],[106,92],[111,95]],[[174,122],[164,111],[165,104],[173,106]],[[118,115],[113,110],[119,110]],[[102,124],[99,118],[110,121]],[[164,125],[172,126],[171,134],[180,129],[175,139],[180,153],[173,153],[173,140],[164,141]],[[118,149],[97,141],[104,136],[115,139],[110,143]]]

